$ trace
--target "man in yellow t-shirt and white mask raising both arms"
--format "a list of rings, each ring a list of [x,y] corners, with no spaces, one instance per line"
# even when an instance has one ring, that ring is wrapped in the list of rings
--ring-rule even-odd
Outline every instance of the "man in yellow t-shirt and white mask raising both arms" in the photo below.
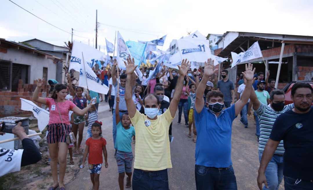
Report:
[[[172,168],[170,142],[168,130],[177,111],[178,102],[182,93],[184,76],[190,68],[187,59],[182,60],[179,67],[179,77],[174,97],[162,115],[157,116],[160,109],[160,100],[154,94],[143,98],[145,114],[141,114],[132,99],[131,80],[134,76],[134,59],[127,58],[126,64],[126,106],[135,127],[135,162],[133,174],[133,189],[159,189],[168,190],[167,168]]]

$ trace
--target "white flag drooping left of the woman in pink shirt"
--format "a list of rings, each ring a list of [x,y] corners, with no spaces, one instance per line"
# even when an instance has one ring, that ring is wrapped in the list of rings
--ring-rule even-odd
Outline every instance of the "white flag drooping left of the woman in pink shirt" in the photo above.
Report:
[[[30,100],[26,100],[23,98],[20,98],[20,100],[21,100],[21,110],[33,112],[34,116],[38,120],[38,129],[40,132],[42,132],[49,123],[49,111],[41,107],[38,107],[38,105],[34,104]]]

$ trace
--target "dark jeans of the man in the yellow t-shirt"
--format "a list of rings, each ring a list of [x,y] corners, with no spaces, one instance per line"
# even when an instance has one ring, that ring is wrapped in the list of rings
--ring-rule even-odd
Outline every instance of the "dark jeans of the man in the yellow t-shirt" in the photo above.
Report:
[[[167,169],[144,172],[134,169],[133,190],[168,190]]]

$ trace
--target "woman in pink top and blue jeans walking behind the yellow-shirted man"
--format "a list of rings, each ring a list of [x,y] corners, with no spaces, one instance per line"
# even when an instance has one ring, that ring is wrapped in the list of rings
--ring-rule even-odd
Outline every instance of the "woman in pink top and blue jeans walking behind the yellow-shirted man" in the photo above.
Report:
[[[182,87],[182,95],[180,96],[180,100],[178,103],[178,124],[182,119],[182,109],[184,109],[184,118],[185,118],[185,126],[188,127],[188,88],[189,79],[185,76],[184,78],[184,86]]]

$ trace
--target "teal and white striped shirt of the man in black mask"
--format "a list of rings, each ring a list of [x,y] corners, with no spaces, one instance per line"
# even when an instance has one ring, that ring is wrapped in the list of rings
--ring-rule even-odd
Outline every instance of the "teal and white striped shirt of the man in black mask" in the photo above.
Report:
[[[258,110],[255,110],[255,113],[259,117],[260,122],[260,138],[259,138],[259,151],[263,152],[265,145],[267,141],[269,140],[269,135],[271,134],[274,122],[276,118],[288,111],[294,108],[294,104],[288,104],[285,105],[284,109],[282,111],[275,111],[273,108],[269,105],[265,105],[262,102],[260,102],[260,107]],[[274,154],[284,154],[284,142],[280,141],[276,151]]]

